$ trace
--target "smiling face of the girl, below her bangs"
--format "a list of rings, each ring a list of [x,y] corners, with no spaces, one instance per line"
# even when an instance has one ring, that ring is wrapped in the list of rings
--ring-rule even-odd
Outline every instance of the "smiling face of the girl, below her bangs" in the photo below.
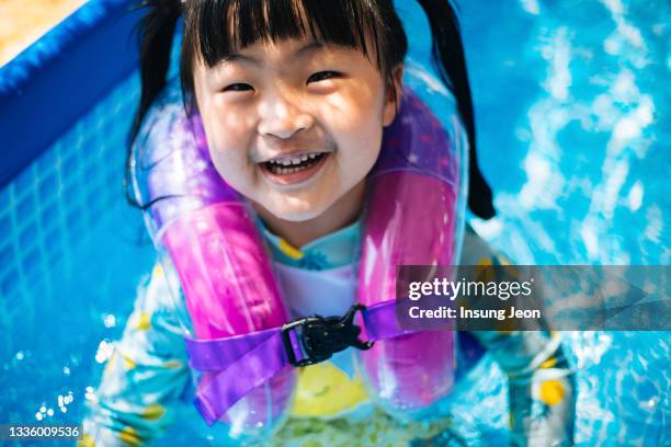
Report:
[[[213,68],[194,67],[216,169],[284,220],[316,218],[362,185],[396,114],[374,62],[348,47],[259,41]],[[398,68],[398,92],[400,78]]]

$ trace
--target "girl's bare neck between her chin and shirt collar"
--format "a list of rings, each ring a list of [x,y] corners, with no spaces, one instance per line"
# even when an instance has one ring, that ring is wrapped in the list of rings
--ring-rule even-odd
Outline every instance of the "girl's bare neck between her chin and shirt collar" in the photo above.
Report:
[[[340,197],[329,209],[309,220],[284,220],[269,213],[259,204],[254,204],[254,207],[269,230],[293,247],[302,248],[322,236],[353,224],[361,215],[365,188],[366,182],[363,180]]]

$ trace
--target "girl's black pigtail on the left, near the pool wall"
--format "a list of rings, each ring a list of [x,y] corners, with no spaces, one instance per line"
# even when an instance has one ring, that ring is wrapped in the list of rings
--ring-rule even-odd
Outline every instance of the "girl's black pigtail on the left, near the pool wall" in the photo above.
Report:
[[[180,0],[143,0],[138,9],[148,12],[139,22],[137,31],[139,41],[139,71],[141,82],[140,102],[133,118],[128,135],[128,150],[126,153],[125,192],[126,199],[133,206],[143,208],[129,191],[130,179],[130,148],[137,137],[140,125],[147,111],[166,87],[166,77],[170,66],[172,38],[181,14]]]

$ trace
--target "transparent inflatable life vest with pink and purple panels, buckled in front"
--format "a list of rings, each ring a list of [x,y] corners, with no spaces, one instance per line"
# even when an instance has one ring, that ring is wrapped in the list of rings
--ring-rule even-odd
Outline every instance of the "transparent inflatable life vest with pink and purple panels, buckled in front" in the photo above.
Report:
[[[215,170],[200,116],[177,83],[147,114],[130,168],[164,267],[179,278],[195,404],[234,438],[262,437],[287,415],[296,371],[359,348],[367,393],[398,417],[425,417],[454,383],[453,331],[407,332],[394,302],[398,265],[452,265],[463,234],[466,136],[447,92],[434,113],[407,73],[395,122],[369,173],[356,306],[289,322],[253,210]],[[433,81],[435,82],[435,81]],[[439,92],[441,93],[441,92]]]

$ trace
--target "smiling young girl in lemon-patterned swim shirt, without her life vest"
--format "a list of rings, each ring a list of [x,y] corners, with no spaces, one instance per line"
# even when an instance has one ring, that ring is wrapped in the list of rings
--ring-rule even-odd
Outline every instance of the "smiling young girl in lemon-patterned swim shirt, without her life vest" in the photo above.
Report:
[[[143,28],[143,94],[133,137],[166,88],[172,37],[182,18],[185,105],[202,118],[220,176],[253,205],[275,264],[328,272],[355,263],[366,176],[378,159],[383,128],[396,118],[401,100],[407,41],[393,2],[151,3]],[[455,14],[443,0],[419,3],[430,21],[439,71],[468,134],[468,206],[489,218],[491,192],[477,169],[473,105]],[[292,157],[318,161],[300,169],[272,164]],[[467,230],[463,265],[501,262]],[[84,445],[149,443],[174,421],[179,403],[192,393],[178,321],[181,303],[171,298],[166,276],[157,266],[141,288],[91,402]],[[323,314],[331,314],[323,310],[330,305],[319,303]],[[511,443],[570,445],[575,391],[558,337],[544,332],[474,335],[509,376]],[[458,432],[448,417],[399,424],[369,403],[349,368],[338,362],[304,368],[289,419],[270,442],[407,445]],[[190,414],[197,419],[193,410]],[[230,429],[202,429],[218,443],[235,437]],[[447,443],[450,436],[440,439]]]

